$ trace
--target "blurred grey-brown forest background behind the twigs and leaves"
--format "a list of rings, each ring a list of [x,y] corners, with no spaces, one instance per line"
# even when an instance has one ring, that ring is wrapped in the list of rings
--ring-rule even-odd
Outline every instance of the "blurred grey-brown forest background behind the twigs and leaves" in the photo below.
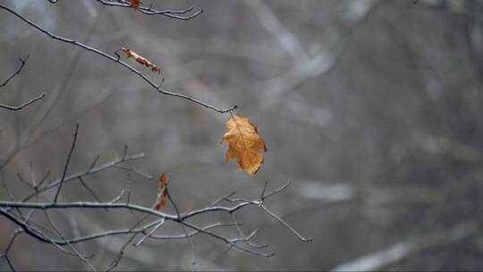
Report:
[[[127,144],[146,154],[132,166],[170,174],[183,211],[233,190],[256,197],[266,181],[272,189],[292,182],[267,205],[313,242],[246,209],[238,219],[259,228],[256,241],[269,243],[275,256],[224,253],[226,244],[198,235],[199,269],[483,269],[483,1],[155,2],[205,11],[192,21],[96,1],[3,3],[110,54],[130,47],[162,66],[166,89],[239,106],[235,113],[258,125],[268,148],[255,177],[236,173],[220,144],[229,115],[163,96],[119,65],[0,11],[1,77],[30,54],[0,102],[46,93],[19,112],[0,110],[0,178],[14,196],[29,191],[17,173],[28,176],[30,161],[39,176],[62,174],[79,122],[72,171],[97,155],[121,156]],[[112,199],[130,179],[131,200],[150,206],[153,181],[107,171],[86,182]],[[8,199],[4,189],[0,197]],[[61,195],[91,199],[76,183]],[[55,216],[74,234],[126,220],[102,211]],[[1,249],[14,227],[0,218]],[[103,256],[124,240],[87,247]],[[27,235],[10,254],[18,269],[84,268]],[[190,269],[190,256],[184,240],[146,242],[128,248],[118,269]]]

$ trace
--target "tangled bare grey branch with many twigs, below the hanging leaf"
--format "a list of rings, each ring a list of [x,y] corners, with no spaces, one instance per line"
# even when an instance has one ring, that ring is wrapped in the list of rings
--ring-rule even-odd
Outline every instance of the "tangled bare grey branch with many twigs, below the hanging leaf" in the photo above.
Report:
[[[165,213],[159,210],[156,210],[152,207],[144,207],[138,204],[131,203],[129,197],[122,201],[123,196],[125,195],[126,191],[131,191],[129,188],[124,188],[121,193],[115,197],[113,200],[102,200],[102,196],[97,196],[97,202],[91,201],[76,201],[76,202],[60,202],[58,201],[58,196],[62,189],[64,183],[79,181],[79,183],[83,183],[82,177],[95,174],[97,172],[109,169],[109,168],[118,168],[120,170],[126,171],[126,174],[129,173],[140,173],[133,168],[129,167],[119,167],[118,165],[129,161],[132,159],[138,159],[143,157],[143,155],[138,156],[128,156],[128,149],[127,146],[123,149],[123,157],[119,159],[114,159],[106,164],[96,166],[99,156],[97,156],[94,161],[89,165],[87,170],[82,171],[78,174],[67,174],[72,153],[75,149],[77,138],[79,134],[79,124],[76,124],[75,131],[73,133],[73,140],[71,149],[69,149],[67,159],[64,164],[64,171],[58,179],[52,181],[50,183],[44,183],[47,179],[48,174],[42,179],[40,183],[35,183],[32,181],[31,183],[23,178],[20,174],[18,174],[19,179],[23,183],[28,184],[33,192],[26,196],[23,200],[17,201],[14,200],[12,193],[9,193],[11,196],[11,200],[0,200],[0,215],[4,216],[5,218],[9,219],[13,224],[17,225],[18,228],[11,238],[11,242],[13,243],[14,239],[16,239],[18,234],[27,234],[30,237],[34,238],[38,242],[44,242],[54,245],[59,251],[62,251],[65,254],[69,254],[72,256],[77,256],[81,259],[90,270],[95,270],[96,268],[92,265],[89,261],[89,256],[93,256],[93,254],[86,254],[80,252],[78,249],[74,247],[74,245],[82,243],[82,242],[89,242],[94,241],[97,239],[102,239],[109,236],[117,236],[117,235],[128,235],[128,240],[123,243],[123,246],[117,252],[115,258],[110,263],[106,270],[111,270],[115,268],[121,259],[123,258],[123,252],[130,244],[135,247],[139,247],[142,242],[147,240],[176,240],[176,239],[187,239],[190,242],[190,247],[192,251],[192,266],[193,269],[196,270],[197,267],[197,260],[196,260],[196,249],[195,243],[192,240],[192,237],[199,234],[205,234],[209,237],[214,238],[217,241],[225,242],[229,245],[227,251],[232,249],[236,249],[239,251],[244,251],[250,254],[262,256],[262,257],[271,257],[274,255],[274,252],[267,252],[265,249],[267,248],[267,244],[258,244],[256,242],[251,242],[251,240],[255,237],[258,233],[258,229],[252,230],[250,234],[245,235],[243,234],[242,224],[238,223],[234,217],[234,214],[242,208],[247,207],[256,207],[259,208],[261,211],[267,213],[270,217],[273,217],[279,222],[281,225],[284,225],[292,234],[296,235],[302,242],[309,242],[311,241],[310,238],[303,237],[299,234],[291,225],[284,221],[281,217],[277,217],[273,211],[271,211],[265,205],[266,201],[275,196],[282,191],[284,191],[290,183],[286,183],[284,186],[275,189],[275,191],[271,191],[266,193],[267,191],[267,183],[265,184],[263,190],[259,194],[257,200],[243,200],[243,199],[233,199],[234,192],[227,194],[221,197],[219,200],[214,201],[211,205],[205,208],[196,208],[191,211],[181,212],[178,206],[175,204],[172,195],[169,193],[167,187],[165,188],[167,197],[169,202],[174,207],[174,214]],[[150,176],[146,176],[146,174],[140,174],[140,176],[144,178],[150,178]],[[87,185],[84,183],[84,187]],[[128,185],[129,186],[129,185]],[[10,189],[4,183],[4,187],[6,191],[10,192]],[[87,188],[89,188],[87,186]],[[55,191],[55,198],[51,202],[38,202],[38,198],[40,195],[45,194],[47,191],[51,189],[56,189]],[[92,190],[88,189],[88,191]],[[128,192],[129,194],[129,192]],[[36,202],[30,201],[31,199],[35,198]],[[228,205],[222,205],[221,203],[225,202]],[[234,204],[233,204],[234,203]],[[130,211],[133,215],[134,212],[140,213],[143,215],[142,217],[137,217],[137,221],[134,225],[131,226],[129,229],[111,229],[110,226],[107,226],[106,231],[95,233],[95,234],[87,234],[83,236],[68,236],[62,234],[59,228],[55,225],[54,221],[48,216],[48,211],[50,210],[73,210],[73,209],[82,209],[82,210],[97,210],[103,209],[105,211],[111,210],[127,210]],[[30,210],[30,215],[28,217],[24,216],[23,210]],[[45,217],[47,218],[48,225],[42,225],[32,219],[30,216],[35,211],[41,211],[44,213]],[[229,214],[232,218],[232,223],[209,223],[207,225],[195,225],[189,222],[189,219],[193,217],[204,217],[209,216],[214,213],[218,212],[225,212]],[[67,213],[65,213],[67,214]],[[148,221],[148,217],[154,217],[154,220]],[[157,234],[157,231],[162,228],[166,221],[171,221],[174,224],[178,224],[182,227],[183,234]],[[146,223],[143,223],[146,222]],[[228,236],[226,234],[218,234],[216,229],[218,228],[233,228],[237,235],[235,236]],[[142,237],[135,242],[136,237],[142,234]],[[7,261],[8,260],[8,251],[11,246],[7,246],[7,249],[1,255],[1,257]],[[67,250],[67,247],[69,250]],[[12,266],[13,267],[13,266]]]

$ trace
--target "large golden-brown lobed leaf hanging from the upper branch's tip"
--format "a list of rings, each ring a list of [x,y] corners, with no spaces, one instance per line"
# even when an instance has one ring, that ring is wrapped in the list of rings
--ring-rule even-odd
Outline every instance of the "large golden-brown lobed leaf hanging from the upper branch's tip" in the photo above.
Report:
[[[265,140],[258,135],[257,126],[247,116],[230,115],[226,120],[226,128],[228,132],[222,138],[222,142],[228,143],[226,160],[234,157],[238,171],[257,174],[267,151]]]

